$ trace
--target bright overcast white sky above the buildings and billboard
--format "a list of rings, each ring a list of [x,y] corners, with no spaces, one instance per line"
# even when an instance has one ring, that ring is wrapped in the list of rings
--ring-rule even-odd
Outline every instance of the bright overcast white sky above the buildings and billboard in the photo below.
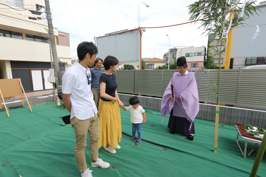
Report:
[[[243,0],[244,1],[244,0]],[[66,5],[66,3],[67,5]],[[93,41],[95,36],[138,27],[138,6],[142,1],[126,0],[50,0],[53,26],[69,33],[71,56],[77,58],[77,45]],[[140,27],[159,27],[189,21],[188,8],[194,0],[143,0],[140,4]],[[257,1],[259,4],[260,1]],[[74,22],[70,16],[71,12]],[[163,54],[174,46],[207,46],[206,34],[196,25],[184,24],[165,28],[147,28],[142,35],[142,58],[163,59]],[[78,30],[78,31],[77,31]],[[78,34],[80,33],[80,36]],[[155,52],[155,53],[154,53]]]

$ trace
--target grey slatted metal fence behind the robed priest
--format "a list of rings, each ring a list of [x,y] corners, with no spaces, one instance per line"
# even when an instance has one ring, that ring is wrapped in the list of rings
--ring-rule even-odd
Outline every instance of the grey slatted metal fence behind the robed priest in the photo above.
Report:
[[[207,73],[195,73],[200,101],[215,102],[210,96],[212,81]],[[217,83],[217,70],[210,70]],[[117,92],[162,97],[177,70],[117,70]],[[219,103],[266,108],[266,70],[223,69],[220,78]]]

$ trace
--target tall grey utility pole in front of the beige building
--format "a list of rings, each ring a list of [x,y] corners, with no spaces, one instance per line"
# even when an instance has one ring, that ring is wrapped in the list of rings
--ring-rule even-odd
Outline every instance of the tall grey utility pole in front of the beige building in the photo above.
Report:
[[[58,86],[58,71],[59,71],[59,64],[58,64],[58,58],[57,58],[57,52],[56,52],[56,43],[55,43],[55,37],[53,32],[53,23],[52,23],[52,16],[51,16],[51,9],[49,0],[44,0],[45,3],[45,11],[46,11],[46,17],[47,17],[47,23],[48,23],[48,29],[49,29],[49,35],[50,35],[50,42],[51,42],[51,48],[52,48],[52,55],[53,55],[53,67],[55,71],[55,77],[56,77],[56,85]]]

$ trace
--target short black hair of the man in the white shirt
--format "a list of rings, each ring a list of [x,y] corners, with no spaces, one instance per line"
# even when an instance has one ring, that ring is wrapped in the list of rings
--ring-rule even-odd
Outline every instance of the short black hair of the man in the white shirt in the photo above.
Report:
[[[93,54],[98,53],[98,49],[93,42],[81,42],[78,47],[77,47],[77,55],[79,58],[79,61],[82,61],[86,54],[90,54],[90,58],[92,57]]]

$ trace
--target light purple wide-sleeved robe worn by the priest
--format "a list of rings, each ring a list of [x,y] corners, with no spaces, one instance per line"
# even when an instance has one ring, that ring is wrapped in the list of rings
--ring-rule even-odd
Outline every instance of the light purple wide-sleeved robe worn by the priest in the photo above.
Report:
[[[161,114],[163,117],[166,117],[173,109],[173,116],[185,117],[192,123],[200,109],[199,95],[194,73],[186,73],[173,74],[173,77],[163,94]],[[173,84],[174,87],[174,102],[170,99],[170,96],[172,95],[171,84]],[[178,97],[181,98],[181,102],[177,100]]]

